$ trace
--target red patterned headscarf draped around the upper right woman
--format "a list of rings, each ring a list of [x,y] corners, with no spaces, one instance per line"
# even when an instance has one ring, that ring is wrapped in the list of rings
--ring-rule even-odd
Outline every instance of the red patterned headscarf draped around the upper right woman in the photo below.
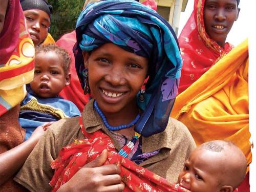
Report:
[[[183,60],[179,93],[187,89],[232,49],[228,42],[222,48],[209,38],[204,28],[204,3],[205,0],[195,0],[194,11],[178,38]]]

